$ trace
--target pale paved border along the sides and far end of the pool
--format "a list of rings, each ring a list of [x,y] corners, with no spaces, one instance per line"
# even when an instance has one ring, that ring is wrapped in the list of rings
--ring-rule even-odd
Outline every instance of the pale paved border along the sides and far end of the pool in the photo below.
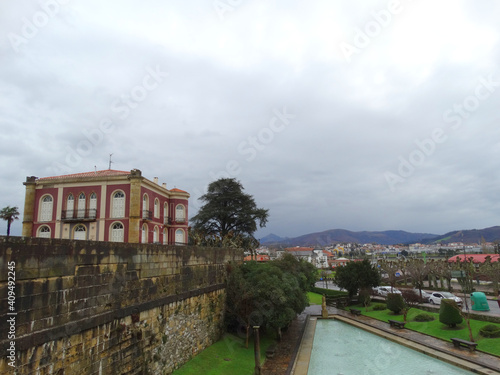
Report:
[[[345,310],[339,310],[328,306],[331,318],[346,321],[360,328],[371,331],[389,340],[396,341],[419,352],[435,358],[439,358],[458,367],[466,368],[478,374],[500,375],[500,358],[479,351],[470,352],[466,348],[455,348],[451,342],[436,339],[408,329],[391,328],[386,322],[382,322],[364,315],[354,316]],[[293,362],[293,368],[289,373],[293,375],[306,375],[311,355],[312,342],[314,339],[315,321],[321,316],[321,306],[313,305],[306,309],[310,314],[306,322],[300,349]]]

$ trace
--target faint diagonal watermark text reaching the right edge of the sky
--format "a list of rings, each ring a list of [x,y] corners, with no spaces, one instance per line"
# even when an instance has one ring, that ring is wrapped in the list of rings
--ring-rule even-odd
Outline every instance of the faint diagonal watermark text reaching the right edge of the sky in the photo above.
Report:
[[[474,94],[466,96],[461,103],[454,103],[452,109],[447,109],[443,113],[445,123],[451,124],[446,128],[435,128],[429,137],[423,140],[414,141],[417,146],[408,154],[408,157],[399,156],[397,174],[385,172],[384,177],[392,192],[396,191],[396,186],[406,181],[413,175],[415,170],[421,167],[437,149],[439,144],[446,142],[449,138],[447,132],[458,130],[465,119],[468,119],[475,111],[481,107],[481,102],[487,100],[500,86],[500,82],[494,81],[493,75],[488,78],[479,77],[479,83],[474,89]]]

